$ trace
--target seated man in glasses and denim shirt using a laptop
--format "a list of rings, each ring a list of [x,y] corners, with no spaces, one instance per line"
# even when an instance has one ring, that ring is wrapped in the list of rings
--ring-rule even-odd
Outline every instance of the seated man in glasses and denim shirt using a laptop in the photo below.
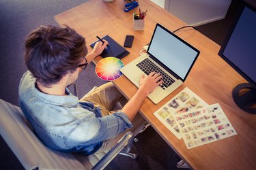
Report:
[[[49,148],[85,155],[102,152],[132,127],[131,121],[142,123],[137,112],[162,83],[158,73],[142,76],[140,88],[128,102],[111,82],[80,101],[66,88],[107,44],[98,42],[87,54],[85,39],[70,27],[42,26],[28,35],[25,64],[29,71],[20,80],[20,107]],[[117,102],[124,107],[112,111]]]

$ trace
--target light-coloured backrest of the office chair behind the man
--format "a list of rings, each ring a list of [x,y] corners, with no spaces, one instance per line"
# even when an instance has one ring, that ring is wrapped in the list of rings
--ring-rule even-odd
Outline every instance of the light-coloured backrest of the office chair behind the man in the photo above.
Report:
[[[0,134],[25,169],[86,169],[73,154],[44,146],[20,107],[0,99],[0,115]]]

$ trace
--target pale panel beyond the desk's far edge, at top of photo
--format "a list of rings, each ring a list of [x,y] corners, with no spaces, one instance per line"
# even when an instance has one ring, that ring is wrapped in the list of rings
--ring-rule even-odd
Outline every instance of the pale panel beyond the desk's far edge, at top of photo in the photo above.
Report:
[[[152,0],[190,25],[198,26],[225,18],[231,0]]]

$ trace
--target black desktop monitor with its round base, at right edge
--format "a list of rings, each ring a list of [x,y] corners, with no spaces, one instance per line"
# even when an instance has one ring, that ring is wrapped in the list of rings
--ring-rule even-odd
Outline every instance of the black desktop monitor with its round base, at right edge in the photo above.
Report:
[[[218,53],[247,83],[233,88],[235,103],[256,114],[256,7],[241,1],[236,22]]]

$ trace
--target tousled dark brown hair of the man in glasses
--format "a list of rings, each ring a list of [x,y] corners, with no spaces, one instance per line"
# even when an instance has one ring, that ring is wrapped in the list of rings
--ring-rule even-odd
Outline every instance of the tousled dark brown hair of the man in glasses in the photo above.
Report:
[[[41,26],[25,41],[25,64],[37,81],[51,86],[77,69],[87,55],[85,38],[66,26]]]

